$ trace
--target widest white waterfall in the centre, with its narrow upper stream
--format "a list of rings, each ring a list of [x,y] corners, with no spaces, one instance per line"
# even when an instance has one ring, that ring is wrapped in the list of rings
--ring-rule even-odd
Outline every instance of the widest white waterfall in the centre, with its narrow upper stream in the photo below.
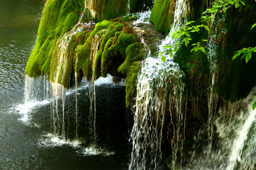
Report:
[[[188,1],[178,0],[175,4],[172,31],[178,29],[186,21],[189,7]],[[170,34],[164,39],[159,48],[175,43]],[[163,167],[164,119],[171,117],[172,133],[175,138],[172,143],[172,167],[175,166],[178,150],[181,152],[185,138],[184,131],[184,73],[179,66],[167,59],[163,62],[159,58],[147,57],[138,75],[136,111],[134,126],[132,127],[132,153],[129,169],[161,169]],[[169,106],[169,114],[166,108]]]

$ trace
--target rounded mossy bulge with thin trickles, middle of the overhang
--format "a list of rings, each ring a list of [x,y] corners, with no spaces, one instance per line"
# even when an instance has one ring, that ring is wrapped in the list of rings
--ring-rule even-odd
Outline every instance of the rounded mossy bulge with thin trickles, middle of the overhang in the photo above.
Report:
[[[88,81],[108,73],[120,76],[117,68],[125,60],[127,46],[135,41],[125,27],[118,22],[99,22],[84,45],[77,48],[76,72],[83,73]]]

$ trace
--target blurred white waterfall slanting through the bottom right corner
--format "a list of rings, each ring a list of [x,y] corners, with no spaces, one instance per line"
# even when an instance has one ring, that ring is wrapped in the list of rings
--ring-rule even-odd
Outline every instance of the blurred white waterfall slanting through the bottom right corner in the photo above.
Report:
[[[236,103],[223,104],[218,111],[218,118],[212,120],[216,136],[212,141],[211,152],[207,149],[209,146],[203,146],[204,137],[199,134],[195,140],[198,146],[194,146],[189,169],[253,169],[247,167],[254,164],[252,152],[255,148],[252,147],[256,144],[253,139],[256,134],[252,127],[255,126],[256,110],[252,110],[252,101],[255,91],[256,88],[253,88],[248,97]],[[250,129],[252,138],[248,139]],[[248,147],[250,150],[246,150]]]

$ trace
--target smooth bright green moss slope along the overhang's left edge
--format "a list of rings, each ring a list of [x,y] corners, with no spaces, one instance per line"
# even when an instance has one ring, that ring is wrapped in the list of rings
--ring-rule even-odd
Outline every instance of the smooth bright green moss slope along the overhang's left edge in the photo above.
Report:
[[[82,0],[48,0],[38,28],[38,39],[31,53],[25,74],[31,77],[49,74],[52,52],[58,39],[72,29],[83,10]]]

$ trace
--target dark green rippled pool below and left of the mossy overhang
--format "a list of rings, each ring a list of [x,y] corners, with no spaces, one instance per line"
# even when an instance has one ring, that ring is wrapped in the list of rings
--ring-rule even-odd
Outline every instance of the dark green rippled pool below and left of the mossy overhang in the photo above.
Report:
[[[24,104],[24,70],[43,4],[2,0],[0,5],[0,169],[127,169],[131,127],[124,85],[96,86],[97,145],[86,144],[89,112],[85,83],[77,93],[79,139],[74,139],[75,90],[67,92],[68,138],[51,134],[51,102]],[[107,82],[107,83],[106,83]]]

